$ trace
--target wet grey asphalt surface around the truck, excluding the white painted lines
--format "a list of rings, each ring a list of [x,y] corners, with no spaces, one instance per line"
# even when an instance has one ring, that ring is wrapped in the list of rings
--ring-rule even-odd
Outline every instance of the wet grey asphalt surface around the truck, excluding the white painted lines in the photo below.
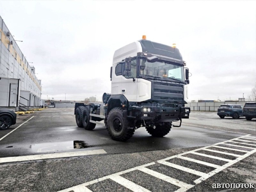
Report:
[[[255,133],[255,121],[246,121],[245,118],[239,118],[232,123],[230,119],[220,119],[218,116],[214,116],[216,115],[214,113],[194,112],[194,114],[191,113],[190,119],[183,121],[184,125],[180,128],[172,128],[171,132],[164,138],[153,138],[145,128],[141,127],[135,131],[130,140],[118,142],[111,140],[104,126],[97,125],[93,131],[77,127],[73,110],[71,108],[48,108],[37,111],[35,114],[18,116],[16,125],[9,130],[0,132],[1,138],[15,127],[18,127],[19,124],[32,116],[34,117],[0,141],[0,157],[92,149],[104,149],[107,154],[0,164],[0,191],[59,191],[135,166],[156,162],[185,151],[230,140],[244,134],[252,134],[253,129]],[[246,128],[242,129],[241,126]],[[224,132],[221,129],[237,133]],[[253,144],[254,142],[249,143]],[[220,148],[209,149],[230,152]],[[234,156],[210,151],[201,151],[200,153],[234,159]],[[236,152],[235,154],[243,155],[244,153]],[[195,154],[184,156],[218,165],[226,163]],[[177,158],[168,160],[168,162],[201,172],[212,170],[211,167],[193,162],[188,163]],[[254,153],[189,189],[189,191],[225,190],[212,188],[212,184],[218,182],[256,183],[255,162]],[[148,168],[188,184],[193,184],[193,180],[199,177],[163,164],[154,164]],[[175,185],[145,175],[144,172],[138,170],[125,173],[122,176],[151,191],[175,191],[178,189]],[[129,189],[112,180],[104,180],[92,184],[88,188],[92,191],[129,191]],[[254,191],[254,189],[228,190]]]

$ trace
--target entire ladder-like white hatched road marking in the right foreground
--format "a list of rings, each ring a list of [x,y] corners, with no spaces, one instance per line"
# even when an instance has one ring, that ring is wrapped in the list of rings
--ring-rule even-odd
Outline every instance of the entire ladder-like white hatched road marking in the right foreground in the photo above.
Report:
[[[248,136],[248,135],[246,135],[246,136]],[[186,172],[190,172],[192,174],[200,175],[201,176],[200,178],[194,180],[194,183],[198,184],[198,183],[208,179],[212,175],[214,175],[214,174],[224,170],[228,166],[230,166],[232,164],[235,164],[236,162],[244,159],[245,157],[248,157],[248,156],[252,155],[253,153],[255,153],[256,149],[254,149],[254,148],[252,148],[253,150],[251,150],[251,151],[244,151],[244,150],[239,150],[239,149],[225,148],[225,147],[216,146],[216,145],[219,145],[219,144],[226,144],[226,142],[230,142],[232,140],[237,140],[237,139],[240,139],[240,138],[243,138],[243,137],[246,137],[246,136],[241,136],[241,137],[238,137],[238,138],[235,138],[235,139],[231,139],[231,140],[223,141],[223,142],[220,142],[220,143],[216,143],[216,144],[211,145],[211,146],[206,146],[206,147],[194,149],[194,150],[191,150],[191,151],[187,151],[187,152],[184,152],[184,153],[181,153],[181,154],[178,154],[178,155],[174,155],[174,156],[171,156],[171,157],[167,157],[167,158],[161,159],[161,160],[159,160],[157,162],[160,163],[160,164],[165,164],[165,165],[168,165],[168,166],[180,169],[182,171],[186,171]],[[226,145],[237,146],[237,145],[232,145],[232,144],[226,144]],[[202,153],[197,153],[196,152],[196,151],[199,151],[199,150],[206,150],[207,148],[210,148],[210,147],[224,148],[224,149],[230,149],[230,150],[234,150],[234,151],[242,151],[242,152],[245,152],[245,154],[244,155],[236,155],[236,154],[233,154],[233,153],[227,153],[228,155],[232,154],[233,156],[234,155],[238,156],[236,159],[231,160],[231,159],[225,159],[225,158],[220,158],[220,157],[216,157],[216,156],[212,156],[212,155],[206,155],[206,154],[202,154]],[[250,147],[244,147],[244,146],[237,146],[237,147],[240,147],[240,148],[250,148]],[[217,151],[211,150],[211,149],[207,149],[207,150],[208,151],[217,152]],[[196,155],[200,155],[200,156],[206,156],[206,157],[210,157],[210,158],[226,161],[228,163],[226,163],[224,165],[210,164],[210,163],[207,163],[207,162],[204,162],[204,161],[199,161],[199,160],[196,160],[196,159],[192,159],[192,158],[188,158],[188,157],[182,156],[182,155],[186,155],[186,154],[196,154]],[[196,171],[196,170],[193,170],[193,169],[190,169],[190,168],[187,168],[187,167],[183,167],[183,166],[180,166],[180,165],[177,165],[177,164],[166,162],[166,160],[169,160],[169,159],[172,159],[172,158],[181,158],[181,159],[184,159],[184,160],[188,160],[188,161],[192,161],[192,162],[195,162],[195,163],[200,163],[200,164],[204,164],[204,165],[207,165],[207,166],[210,166],[210,167],[214,167],[216,169],[213,170],[212,172],[209,172],[209,173],[203,173],[203,172],[199,172],[199,171]],[[120,175],[122,175],[124,173],[135,171],[135,170],[140,170],[140,171],[145,172],[145,173],[147,173],[149,175],[152,175],[152,176],[154,176],[154,177],[156,177],[158,179],[167,181],[169,183],[172,183],[172,184],[174,184],[176,186],[181,187],[178,190],[176,190],[177,192],[178,191],[179,192],[185,192],[189,188],[194,187],[194,185],[190,185],[190,184],[184,183],[182,181],[176,180],[176,179],[171,178],[171,177],[169,177],[167,175],[164,175],[162,173],[159,173],[159,172],[156,172],[156,171],[153,171],[151,169],[146,168],[147,166],[150,166],[150,165],[153,165],[153,164],[155,164],[155,162],[152,162],[152,163],[149,163],[149,164],[140,165],[138,167],[127,169],[127,170],[124,170],[124,171],[121,171],[121,172],[117,172],[117,173],[114,173],[114,174],[111,174],[111,175],[108,175],[108,176],[105,176],[105,177],[102,177],[102,178],[99,178],[99,179],[96,179],[96,180],[92,180],[92,181],[83,183],[81,185],[77,185],[77,186],[74,186],[74,187],[71,187],[71,188],[64,189],[61,192],[68,192],[68,191],[72,191],[72,190],[76,192],[76,189],[79,189],[79,190],[83,189],[83,190],[85,190],[85,189],[87,189],[87,188],[85,188],[86,186],[92,185],[94,183],[97,183],[97,182],[100,182],[100,181],[103,181],[103,180],[106,180],[106,179],[112,179],[115,182],[123,185],[124,187],[126,187],[128,189],[131,189],[132,191],[136,191],[136,192],[137,191],[148,191],[148,189],[145,189],[145,188],[143,188],[143,187],[133,183],[132,181],[127,180],[127,179],[123,178],[122,176],[120,176]],[[179,172],[177,174],[179,174]],[[79,192],[79,190],[77,190],[77,192]]]

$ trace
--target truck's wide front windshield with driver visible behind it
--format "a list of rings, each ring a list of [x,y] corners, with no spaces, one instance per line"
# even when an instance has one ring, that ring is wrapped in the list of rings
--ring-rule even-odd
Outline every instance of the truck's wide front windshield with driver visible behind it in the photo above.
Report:
[[[160,78],[174,78],[184,81],[184,67],[164,60],[158,60],[154,63],[149,63],[146,58],[141,58],[140,75]]]

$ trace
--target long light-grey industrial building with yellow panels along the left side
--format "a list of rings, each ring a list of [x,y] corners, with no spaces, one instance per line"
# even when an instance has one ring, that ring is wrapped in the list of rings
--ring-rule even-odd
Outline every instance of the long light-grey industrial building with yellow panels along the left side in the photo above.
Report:
[[[27,110],[44,105],[41,80],[0,16],[0,107]]]

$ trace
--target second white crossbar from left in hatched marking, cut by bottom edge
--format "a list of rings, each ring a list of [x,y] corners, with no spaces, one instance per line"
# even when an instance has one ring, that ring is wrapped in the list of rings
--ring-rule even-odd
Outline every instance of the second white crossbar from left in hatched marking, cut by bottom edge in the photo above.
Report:
[[[120,185],[123,185],[124,187],[135,191],[135,192],[150,192],[148,189],[145,189],[141,187],[140,185],[137,185],[136,183],[133,183],[132,181],[125,179],[119,175],[111,176],[109,179],[116,181]]]

